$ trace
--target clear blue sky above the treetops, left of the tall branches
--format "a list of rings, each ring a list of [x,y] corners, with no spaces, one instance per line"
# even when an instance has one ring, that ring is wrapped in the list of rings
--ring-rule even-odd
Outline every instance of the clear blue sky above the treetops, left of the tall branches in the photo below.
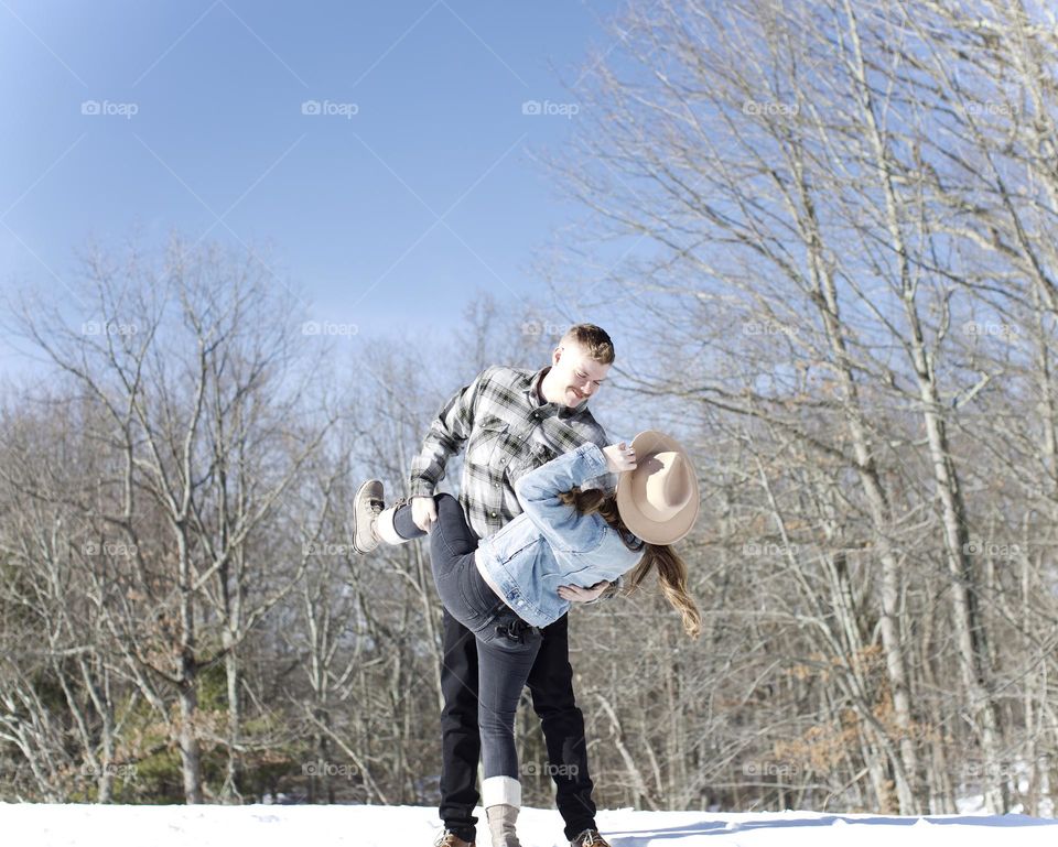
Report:
[[[0,284],[62,296],[89,238],[175,227],[271,241],[315,319],[421,330],[539,294],[574,210],[528,152],[561,153],[563,82],[618,7],[0,0]]]

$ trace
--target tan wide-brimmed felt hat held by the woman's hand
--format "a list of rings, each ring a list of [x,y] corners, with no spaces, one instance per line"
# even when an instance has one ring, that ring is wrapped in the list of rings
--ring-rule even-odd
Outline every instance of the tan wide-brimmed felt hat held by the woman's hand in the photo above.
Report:
[[[617,479],[617,511],[625,525],[650,544],[674,544],[698,518],[698,475],[687,450],[656,430],[631,442],[636,467]]]

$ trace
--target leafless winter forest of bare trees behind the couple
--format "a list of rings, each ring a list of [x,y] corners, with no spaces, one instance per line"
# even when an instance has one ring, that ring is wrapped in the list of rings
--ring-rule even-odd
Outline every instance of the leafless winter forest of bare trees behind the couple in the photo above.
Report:
[[[83,251],[88,315],[4,283],[34,377],[0,397],[0,801],[435,804],[427,550],[358,556],[352,499],[595,321],[596,417],[677,433],[702,495],[698,640],[652,584],[571,613],[600,807],[1054,814],[1055,8],[612,25],[538,163],[580,217],[536,303],[350,344],[219,231]],[[549,807],[528,694],[518,737]]]

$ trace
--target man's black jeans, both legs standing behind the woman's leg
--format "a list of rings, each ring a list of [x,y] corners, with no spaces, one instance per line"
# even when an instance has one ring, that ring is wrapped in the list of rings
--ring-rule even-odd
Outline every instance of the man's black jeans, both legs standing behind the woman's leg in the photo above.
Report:
[[[451,510],[439,507],[439,521],[442,511]],[[410,507],[398,510],[393,525],[404,537],[425,534],[411,522]],[[572,840],[584,829],[595,828],[595,803],[587,769],[584,716],[573,694],[568,616],[544,627],[541,634],[526,684],[543,729],[548,770],[555,785],[555,805],[565,823],[565,836]],[[481,799],[476,784],[482,752],[477,642],[474,633],[447,610],[443,613],[442,640],[440,815],[446,829],[463,840],[473,841],[477,824],[474,807]]]

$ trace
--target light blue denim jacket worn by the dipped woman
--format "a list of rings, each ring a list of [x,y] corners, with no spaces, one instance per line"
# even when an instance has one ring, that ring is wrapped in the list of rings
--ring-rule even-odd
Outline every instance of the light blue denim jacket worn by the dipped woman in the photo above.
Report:
[[[606,457],[591,442],[529,471],[515,484],[522,513],[477,547],[504,601],[535,627],[569,611],[559,586],[614,582],[643,558],[643,550],[629,550],[602,515],[581,514],[559,500],[559,492],[605,473]]]

